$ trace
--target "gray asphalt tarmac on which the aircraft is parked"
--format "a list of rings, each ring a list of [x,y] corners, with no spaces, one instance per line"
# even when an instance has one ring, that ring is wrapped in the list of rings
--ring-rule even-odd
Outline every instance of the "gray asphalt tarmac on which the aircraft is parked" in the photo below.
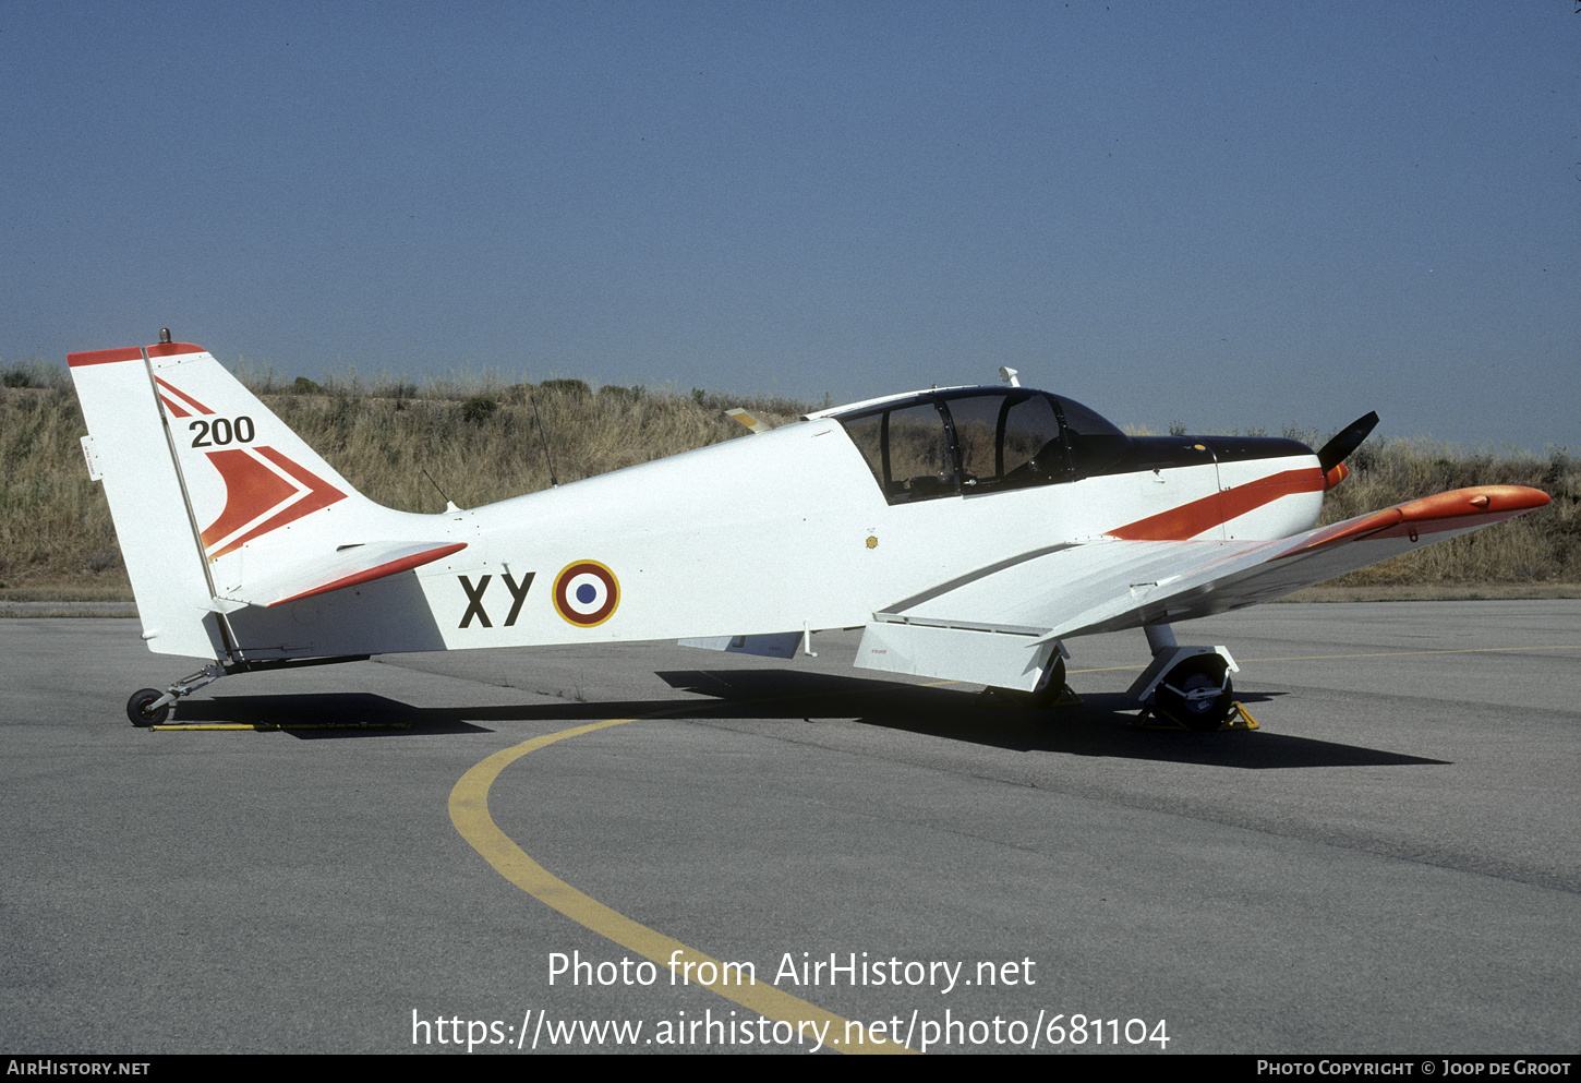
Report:
[[[1130,727],[1130,632],[1070,643],[1085,702],[1053,711],[871,680],[854,634],[824,634],[786,662],[639,645],[242,675],[179,718],[409,727],[147,732],[126,696],[196,666],[130,620],[0,621],[0,1050],[455,1051],[476,1021],[477,1053],[542,1051],[568,1020],[642,1029],[553,1048],[811,1048],[640,972],[451,822],[490,754],[662,713],[509,765],[495,824],[632,922],[912,1047],[1575,1053],[1581,602],[1176,631],[1228,645],[1260,730]],[[555,953],[613,983],[550,983]],[[783,969],[814,961],[816,985]]]

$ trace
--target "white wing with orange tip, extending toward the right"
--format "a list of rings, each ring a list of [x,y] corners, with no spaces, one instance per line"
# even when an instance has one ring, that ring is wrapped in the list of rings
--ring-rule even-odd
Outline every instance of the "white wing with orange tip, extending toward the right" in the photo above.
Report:
[[[1192,620],[1266,602],[1546,503],[1548,493],[1535,489],[1483,485],[1277,541],[1104,536],[990,564],[901,599],[874,618],[889,626],[1031,637],[1023,643]]]

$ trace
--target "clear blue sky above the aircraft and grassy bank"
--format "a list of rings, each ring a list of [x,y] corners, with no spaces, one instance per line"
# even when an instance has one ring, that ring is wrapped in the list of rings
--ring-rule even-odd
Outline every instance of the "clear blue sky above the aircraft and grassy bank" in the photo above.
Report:
[[[0,359],[1581,449],[1581,14],[0,3]]]

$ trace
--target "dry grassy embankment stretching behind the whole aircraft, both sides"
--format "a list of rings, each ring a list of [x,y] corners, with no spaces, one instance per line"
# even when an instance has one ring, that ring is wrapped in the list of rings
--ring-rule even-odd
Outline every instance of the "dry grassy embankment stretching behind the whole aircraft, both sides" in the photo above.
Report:
[[[435,512],[549,487],[526,384],[487,375],[413,383],[345,378],[326,387],[274,373],[243,379],[370,498]],[[89,481],[79,438],[87,432],[63,368],[3,368],[0,387],[0,601],[130,601],[109,508]],[[561,484],[745,433],[724,416],[745,406],[770,424],[809,408],[783,398],[602,387],[545,381],[531,389]],[[1290,432],[1312,446],[1325,433]],[[1543,489],[1549,508],[1511,523],[1432,545],[1303,591],[1319,598],[1581,596],[1581,460],[1466,452],[1426,440],[1369,440],[1352,476],[1326,498],[1334,522],[1464,485]],[[179,525],[174,519],[172,526]]]

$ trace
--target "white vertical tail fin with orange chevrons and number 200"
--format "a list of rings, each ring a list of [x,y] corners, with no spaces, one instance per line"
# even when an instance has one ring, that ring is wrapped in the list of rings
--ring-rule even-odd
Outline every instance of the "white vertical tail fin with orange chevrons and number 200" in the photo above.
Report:
[[[313,566],[296,564],[327,560],[327,531],[345,541],[348,528],[400,515],[353,490],[199,346],[68,362],[155,651],[234,656],[225,613],[250,598],[248,580],[310,577]]]

